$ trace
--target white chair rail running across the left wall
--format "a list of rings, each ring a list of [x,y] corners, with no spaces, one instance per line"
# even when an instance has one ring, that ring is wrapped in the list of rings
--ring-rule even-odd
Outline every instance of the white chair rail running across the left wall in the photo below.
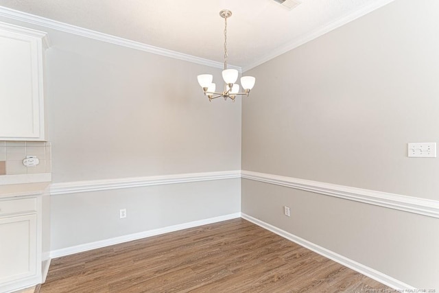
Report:
[[[134,178],[117,178],[104,180],[88,180],[67,183],[54,183],[50,187],[50,194],[56,196],[59,194],[76,194],[78,192],[90,192],[109,189],[121,189],[132,187],[143,187],[152,185],[165,185],[175,183],[189,183],[207,180],[221,180],[230,178],[241,178],[240,171],[224,172],[204,172],[204,173],[187,173],[173,174],[163,176],[146,176]]]

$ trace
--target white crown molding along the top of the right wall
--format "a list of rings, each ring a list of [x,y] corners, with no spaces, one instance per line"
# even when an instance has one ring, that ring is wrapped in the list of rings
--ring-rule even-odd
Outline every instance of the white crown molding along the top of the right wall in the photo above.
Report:
[[[298,38],[292,40],[291,42],[287,43],[286,45],[283,45],[282,47],[278,47],[275,50],[270,51],[269,54],[262,56],[258,60],[250,63],[249,65],[244,65],[242,67],[242,72],[246,72],[254,67],[257,67],[269,60],[272,60],[278,56],[281,56],[282,54],[285,54],[287,51],[291,51],[292,49],[299,47],[300,45],[303,45],[305,43],[308,43],[309,41],[318,38],[319,36],[322,36],[324,34],[327,34],[328,32],[331,32],[332,30],[335,30],[337,27],[341,27],[342,25],[345,25],[346,23],[349,23],[351,21],[354,21],[355,19],[358,19],[361,16],[364,16],[374,10],[377,10],[378,8],[381,8],[384,5],[387,5],[390,2],[393,2],[394,0],[377,0],[371,3],[368,3],[363,8],[359,10],[355,10],[345,16],[343,16],[341,19],[337,19],[336,21],[333,21],[331,23],[328,23],[327,25],[324,25],[322,27],[318,27],[316,30],[313,30],[311,32],[307,32],[303,34],[302,36],[299,36]]]

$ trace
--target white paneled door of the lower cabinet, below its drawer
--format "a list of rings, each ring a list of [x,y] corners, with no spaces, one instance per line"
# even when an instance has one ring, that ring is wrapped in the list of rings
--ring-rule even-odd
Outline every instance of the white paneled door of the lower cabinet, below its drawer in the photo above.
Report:
[[[36,274],[36,215],[0,218],[0,283]]]

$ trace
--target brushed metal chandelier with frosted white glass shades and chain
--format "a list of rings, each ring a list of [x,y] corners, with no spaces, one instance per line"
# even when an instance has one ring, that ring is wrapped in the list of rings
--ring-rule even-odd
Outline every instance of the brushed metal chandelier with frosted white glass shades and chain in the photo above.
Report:
[[[212,82],[213,75],[211,74],[200,74],[197,78],[198,83],[204,91],[204,95],[209,97],[210,102],[217,97],[224,97],[224,100],[229,98],[235,102],[235,97],[237,95],[248,96],[250,90],[254,86],[256,78],[252,76],[241,77],[241,86],[242,89],[244,89],[244,93],[239,93],[239,84],[235,83],[238,79],[238,71],[236,69],[227,69],[227,19],[232,16],[232,12],[230,12],[230,10],[221,10],[219,15],[224,19],[224,70],[222,71],[222,78],[225,83],[224,91],[222,91],[222,93],[215,92],[216,84]]]

